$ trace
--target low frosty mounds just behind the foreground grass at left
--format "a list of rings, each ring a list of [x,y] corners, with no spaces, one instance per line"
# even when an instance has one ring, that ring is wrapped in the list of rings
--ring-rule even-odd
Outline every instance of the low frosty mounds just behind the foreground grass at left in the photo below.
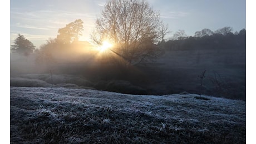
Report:
[[[43,87],[69,89],[97,89],[124,94],[147,94],[146,89],[125,80],[97,81],[96,84],[76,75],[22,74],[11,77],[10,85],[16,87]]]

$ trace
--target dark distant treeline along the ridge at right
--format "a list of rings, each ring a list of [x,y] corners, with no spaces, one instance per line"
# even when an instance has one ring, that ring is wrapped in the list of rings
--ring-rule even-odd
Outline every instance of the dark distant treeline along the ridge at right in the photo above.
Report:
[[[225,27],[227,28],[227,27]],[[207,31],[206,31],[207,30]],[[246,30],[232,33],[224,28],[212,32],[209,29],[196,32],[194,37],[182,37],[176,40],[159,42],[157,45],[165,50],[192,50],[192,49],[232,49],[246,47]],[[207,33],[205,33],[205,31]]]

